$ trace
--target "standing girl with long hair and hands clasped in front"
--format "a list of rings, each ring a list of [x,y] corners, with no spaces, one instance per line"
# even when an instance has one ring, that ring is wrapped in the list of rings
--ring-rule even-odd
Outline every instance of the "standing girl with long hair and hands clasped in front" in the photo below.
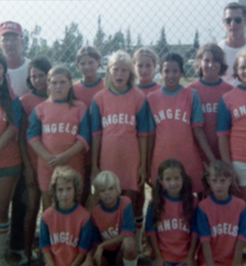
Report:
[[[69,164],[83,175],[83,152],[89,150],[90,114],[76,101],[66,67],[48,73],[50,97],[36,106],[28,129],[28,142],[38,155],[37,175],[44,209],[51,205],[49,184],[52,168]]]

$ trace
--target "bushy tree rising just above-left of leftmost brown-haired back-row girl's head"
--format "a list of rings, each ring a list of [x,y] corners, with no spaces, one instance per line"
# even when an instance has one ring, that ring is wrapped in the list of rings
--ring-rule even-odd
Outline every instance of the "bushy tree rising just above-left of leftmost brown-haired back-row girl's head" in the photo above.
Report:
[[[83,35],[78,29],[78,25],[72,22],[69,27],[65,27],[65,36],[55,43],[60,48],[60,60],[65,63],[72,63],[75,61],[77,51],[83,45]]]

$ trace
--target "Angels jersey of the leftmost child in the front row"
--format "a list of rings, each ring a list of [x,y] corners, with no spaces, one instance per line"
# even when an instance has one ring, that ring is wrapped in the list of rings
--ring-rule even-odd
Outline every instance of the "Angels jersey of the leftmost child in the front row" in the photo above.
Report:
[[[91,235],[90,214],[78,203],[67,211],[49,207],[40,223],[39,246],[52,253],[55,265],[67,266],[78,254],[87,254]]]

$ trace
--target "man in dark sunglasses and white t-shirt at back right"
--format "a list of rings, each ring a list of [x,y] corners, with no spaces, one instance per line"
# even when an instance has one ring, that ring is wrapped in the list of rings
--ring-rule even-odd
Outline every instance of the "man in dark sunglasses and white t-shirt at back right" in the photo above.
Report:
[[[218,45],[226,55],[228,69],[226,75],[222,76],[224,81],[236,86],[240,82],[234,79],[234,60],[236,54],[246,48],[244,37],[244,27],[246,25],[246,7],[238,3],[227,4],[224,9],[223,23],[226,27],[226,39],[220,41]]]

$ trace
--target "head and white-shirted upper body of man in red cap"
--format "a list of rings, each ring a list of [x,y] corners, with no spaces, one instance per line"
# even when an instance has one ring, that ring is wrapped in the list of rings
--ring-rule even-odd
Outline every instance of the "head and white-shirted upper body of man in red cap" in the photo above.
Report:
[[[0,24],[1,48],[8,63],[12,89],[16,95],[22,96],[28,93],[26,83],[29,59],[21,55],[24,44],[22,28],[19,23],[5,21]]]

